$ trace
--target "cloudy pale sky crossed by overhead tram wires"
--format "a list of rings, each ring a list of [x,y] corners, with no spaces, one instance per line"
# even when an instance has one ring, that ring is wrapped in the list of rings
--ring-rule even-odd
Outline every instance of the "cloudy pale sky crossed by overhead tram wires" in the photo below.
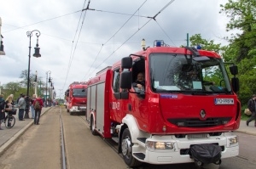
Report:
[[[226,44],[223,37],[230,36],[225,31],[229,20],[219,14],[224,3],[227,0],[0,0],[5,52],[0,55],[1,85],[22,81],[30,42],[30,72],[37,70],[44,83],[50,74],[57,97],[72,82],[86,82],[141,50],[142,39],[146,46],[163,40],[179,47],[187,44],[187,34],[201,34]],[[40,58],[32,56],[36,33]]]

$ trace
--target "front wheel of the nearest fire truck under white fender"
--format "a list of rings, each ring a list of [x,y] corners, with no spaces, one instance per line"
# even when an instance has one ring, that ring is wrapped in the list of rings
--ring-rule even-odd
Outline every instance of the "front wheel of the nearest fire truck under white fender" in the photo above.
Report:
[[[140,166],[143,162],[137,161],[132,156],[132,142],[131,142],[131,133],[128,128],[125,128],[122,134],[121,140],[121,149],[122,149],[122,156],[127,166]]]

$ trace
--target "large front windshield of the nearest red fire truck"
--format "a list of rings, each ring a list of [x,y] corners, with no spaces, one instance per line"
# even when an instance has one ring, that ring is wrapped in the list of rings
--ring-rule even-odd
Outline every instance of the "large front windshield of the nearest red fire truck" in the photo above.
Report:
[[[222,59],[185,54],[150,54],[150,85],[155,93],[230,93]]]

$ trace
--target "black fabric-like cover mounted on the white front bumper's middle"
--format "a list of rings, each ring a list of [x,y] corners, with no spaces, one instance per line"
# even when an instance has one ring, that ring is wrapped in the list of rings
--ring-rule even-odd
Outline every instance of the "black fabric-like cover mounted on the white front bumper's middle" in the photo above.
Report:
[[[203,164],[220,164],[221,148],[214,144],[198,144],[190,147],[190,156]]]

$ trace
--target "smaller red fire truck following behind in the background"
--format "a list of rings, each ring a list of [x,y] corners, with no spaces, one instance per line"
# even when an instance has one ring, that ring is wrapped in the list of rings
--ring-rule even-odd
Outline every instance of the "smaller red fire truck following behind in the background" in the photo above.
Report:
[[[70,115],[86,111],[87,84],[86,82],[73,82],[65,92],[67,99],[67,112]]]

